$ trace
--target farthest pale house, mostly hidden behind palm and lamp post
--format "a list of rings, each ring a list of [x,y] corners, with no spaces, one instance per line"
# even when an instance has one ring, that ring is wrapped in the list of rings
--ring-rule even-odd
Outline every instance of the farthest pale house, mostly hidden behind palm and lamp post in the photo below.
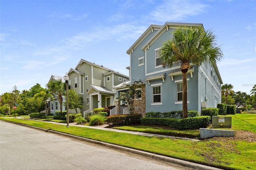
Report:
[[[64,77],[52,75],[48,83],[50,81],[57,81],[57,80],[61,80],[62,82],[65,82]],[[64,104],[66,98],[64,96],[62,96],[62,98],[63,98],[63,104]],[[60,107],[62,107],[62,111],[65,111],[65,106],[64,105],[60,106],[58,96],[54,96],[52,101],[47,100],[47,107],[48,107],[48,113],[51,113],[54,115],[56,111],[60,111]]]

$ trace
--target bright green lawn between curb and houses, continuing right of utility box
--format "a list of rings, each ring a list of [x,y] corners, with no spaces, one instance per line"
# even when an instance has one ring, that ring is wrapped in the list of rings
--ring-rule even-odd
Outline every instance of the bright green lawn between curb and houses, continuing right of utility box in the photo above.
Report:
[[[232,116],[233,130],[244,129],[256,133],[254,131],[256,128],[255,115],[237,114],[228,116]],[[70,126],[69,128],[66,128],[66,125],[55,125],[52,123],[31,120],[14,118],[5,119],[1,117],[0,119],[74,134],[76,136],[118,144],[120,146],[144,150],[223,169],[256,169],[256,142],[247,142],[246,140],[230,140],[229,138],[216,140],[210,138],[201,140],[200,142],[192,142],[188,140],[139,136],[86,127]],[[183,130],[183,132],[186,133],[189,133],[189,131],[190,130]],[[195,132],[191,130],[191,133]]]

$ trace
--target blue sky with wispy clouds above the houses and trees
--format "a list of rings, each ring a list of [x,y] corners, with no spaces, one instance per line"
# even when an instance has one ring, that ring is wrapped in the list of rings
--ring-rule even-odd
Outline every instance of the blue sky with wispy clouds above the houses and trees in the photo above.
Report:
[[[150,24],[201,23],[224,58],[223,83],[250,94],[256,84],[255,0],[1,0],[0,94],[45,87],[80,59],[128,75],[128,48]]]

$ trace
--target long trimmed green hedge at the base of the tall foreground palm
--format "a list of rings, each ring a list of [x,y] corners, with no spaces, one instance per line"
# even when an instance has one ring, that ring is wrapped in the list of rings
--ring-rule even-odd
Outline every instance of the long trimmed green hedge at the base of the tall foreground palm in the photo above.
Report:
[[[164,125],[180,130],[206,128],[210,123],[210,116],[189,117],[185,119],[174,118],[147,118],[141,119],[143,125]]]

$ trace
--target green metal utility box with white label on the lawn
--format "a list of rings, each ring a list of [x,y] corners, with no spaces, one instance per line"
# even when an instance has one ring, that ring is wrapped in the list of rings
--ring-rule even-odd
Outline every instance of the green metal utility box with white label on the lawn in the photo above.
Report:
[[[232,117],[230,116],[213,116],[212,128],[231,128]]]

